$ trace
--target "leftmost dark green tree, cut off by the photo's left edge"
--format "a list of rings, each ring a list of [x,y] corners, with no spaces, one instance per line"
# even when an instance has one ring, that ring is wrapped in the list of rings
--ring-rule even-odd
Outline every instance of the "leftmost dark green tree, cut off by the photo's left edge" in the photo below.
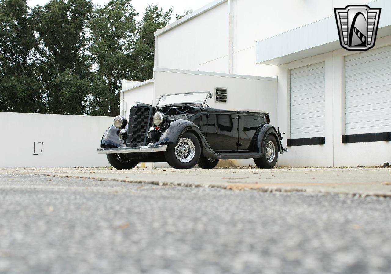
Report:
[[[45,112],[35,62],[37,45],[26,0],[0,1],[0,111]]]

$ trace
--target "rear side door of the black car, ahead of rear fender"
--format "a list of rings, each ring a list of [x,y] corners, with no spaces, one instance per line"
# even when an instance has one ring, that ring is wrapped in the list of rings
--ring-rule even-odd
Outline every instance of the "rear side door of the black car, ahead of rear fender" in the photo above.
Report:
[[[239,141],[238,150],[252,150],[255,133],[264,122],[264,116],[259,113],[239,113]]]

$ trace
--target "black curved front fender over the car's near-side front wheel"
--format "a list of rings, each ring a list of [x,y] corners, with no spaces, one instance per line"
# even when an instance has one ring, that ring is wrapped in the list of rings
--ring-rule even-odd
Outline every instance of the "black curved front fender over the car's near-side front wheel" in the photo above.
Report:
[[[186,131],[191,131],[198,138],[202,149],[202,156],[219,159],[220,155],[213,151],[199,127],[188,120],[176,120],[169,124],[167,129],[161,134],[160,139],[154,143],[154,145],[167,145],[169,148],[175,147],[178,145],[182,134]]]

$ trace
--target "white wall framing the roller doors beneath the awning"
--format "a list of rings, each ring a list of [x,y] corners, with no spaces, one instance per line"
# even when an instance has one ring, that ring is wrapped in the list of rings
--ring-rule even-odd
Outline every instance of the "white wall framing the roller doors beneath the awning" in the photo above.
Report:
[[[376,40],[374,48],[391,45],[391,36]],[[289,70],[325,62],[325,145],[289,147],[279,166],[344,167],[373,166],[391,162],[391,142],[342,143],[345,134],[344,57],[357,52],[340,49],[278,66],[278,122],[285,131],[283,145],[290,138]]]

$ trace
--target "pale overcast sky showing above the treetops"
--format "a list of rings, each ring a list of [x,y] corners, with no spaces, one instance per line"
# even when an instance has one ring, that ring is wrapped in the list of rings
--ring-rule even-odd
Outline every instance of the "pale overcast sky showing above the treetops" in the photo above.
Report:
[[[145,7],[148,4],[154,4],[158,5],[159,7],[163,8],[163,11],[167,11],[170,7],[172,7],[172,21],[175,20],[176,14],[183,14],[183,11],[185,9],[192,9],[195,11],[196,9],[199,9],[200,7],[203,7],[204,5],[212,2],[213,0],[132,0],[131,4],[133,7],[135,7],[136,11],[140,13],[140,16],[138,16],[138,20],[141,20],[142,13],[145,10]],[[27,4],[29,4],[30,7],[34,7],[36,5],[45,5],[48,0],[27,0]],[[104,5],[108,2],[108,0],[92,0],[92,3]]]

